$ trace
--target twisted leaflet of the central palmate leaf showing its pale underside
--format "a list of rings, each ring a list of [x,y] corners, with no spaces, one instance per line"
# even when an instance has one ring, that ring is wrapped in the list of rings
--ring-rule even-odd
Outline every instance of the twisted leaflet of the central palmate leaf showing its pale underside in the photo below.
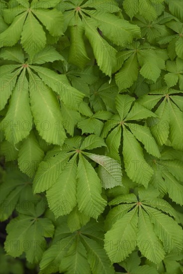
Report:
[[[99,177],[104,188],[122,185],[122,171],[118,161],[104,155],[88,152],[83,152],[83,154],[100,165]]]

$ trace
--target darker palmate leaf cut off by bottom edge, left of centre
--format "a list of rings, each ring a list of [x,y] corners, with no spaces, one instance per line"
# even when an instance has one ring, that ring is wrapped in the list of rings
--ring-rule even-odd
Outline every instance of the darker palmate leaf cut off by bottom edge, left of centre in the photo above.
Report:
[[[86,271],[87,274],[114,274],[114,268],[102,248],[103,224],[92,220],[79,231],[71,233],[66,223],[67,218],[58,219],[53,242],[40,262],[40,274],[58,271],[67,274]]]

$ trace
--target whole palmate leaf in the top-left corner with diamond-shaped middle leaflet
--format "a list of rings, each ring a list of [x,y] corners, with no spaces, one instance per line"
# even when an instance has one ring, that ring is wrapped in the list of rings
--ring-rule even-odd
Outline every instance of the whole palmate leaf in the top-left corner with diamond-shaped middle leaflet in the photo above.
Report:
[[[43,9],[42,5],[39,6],[38,3],[36,5],[34,1],[30,7],[28,6],[28,2],[25,6],[23,2],[17,5],[16,11],[20,10],[21,13],[12,13],[13,18],[11,17],[11,19],[8,16],[13,7],[10,6],[9,9],[6,10],[4,16],[11,25],[0,35],[0,47],[16,44],[21,36],[21,44],[24,50],[29,54],[30,59],[32,59],[46,44],[46,34],[39,21],[43,23],[50,35],[59,36],[63,33],[63,15],[62,12],[56,8],[48,9],[46,6],[46,8]],[[59,28],[55,28],[55,24],[58,24]]]

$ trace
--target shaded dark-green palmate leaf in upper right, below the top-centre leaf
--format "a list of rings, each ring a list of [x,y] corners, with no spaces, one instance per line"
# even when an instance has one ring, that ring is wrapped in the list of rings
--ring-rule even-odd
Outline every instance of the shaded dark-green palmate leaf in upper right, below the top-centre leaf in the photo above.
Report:
[[[129,88],[140,74],[154,83],[165,69],[165,60],[168,59],[166,51],[158,52],[154,48],[141,46],[139,42],[126,45],[128,50],[117,53],[117,64],[114,67],[116,73],[115,80],[120,91]],[[140,70],[139,70],[140,69]]]

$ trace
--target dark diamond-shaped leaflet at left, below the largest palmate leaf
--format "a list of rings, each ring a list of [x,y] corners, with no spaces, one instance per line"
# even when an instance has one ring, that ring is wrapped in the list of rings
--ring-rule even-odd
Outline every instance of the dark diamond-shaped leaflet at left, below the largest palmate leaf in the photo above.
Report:
[[[19,169],[30,178],[35,174],[37,166],[44,157],[33,132],[23,141],[18,152]]]

